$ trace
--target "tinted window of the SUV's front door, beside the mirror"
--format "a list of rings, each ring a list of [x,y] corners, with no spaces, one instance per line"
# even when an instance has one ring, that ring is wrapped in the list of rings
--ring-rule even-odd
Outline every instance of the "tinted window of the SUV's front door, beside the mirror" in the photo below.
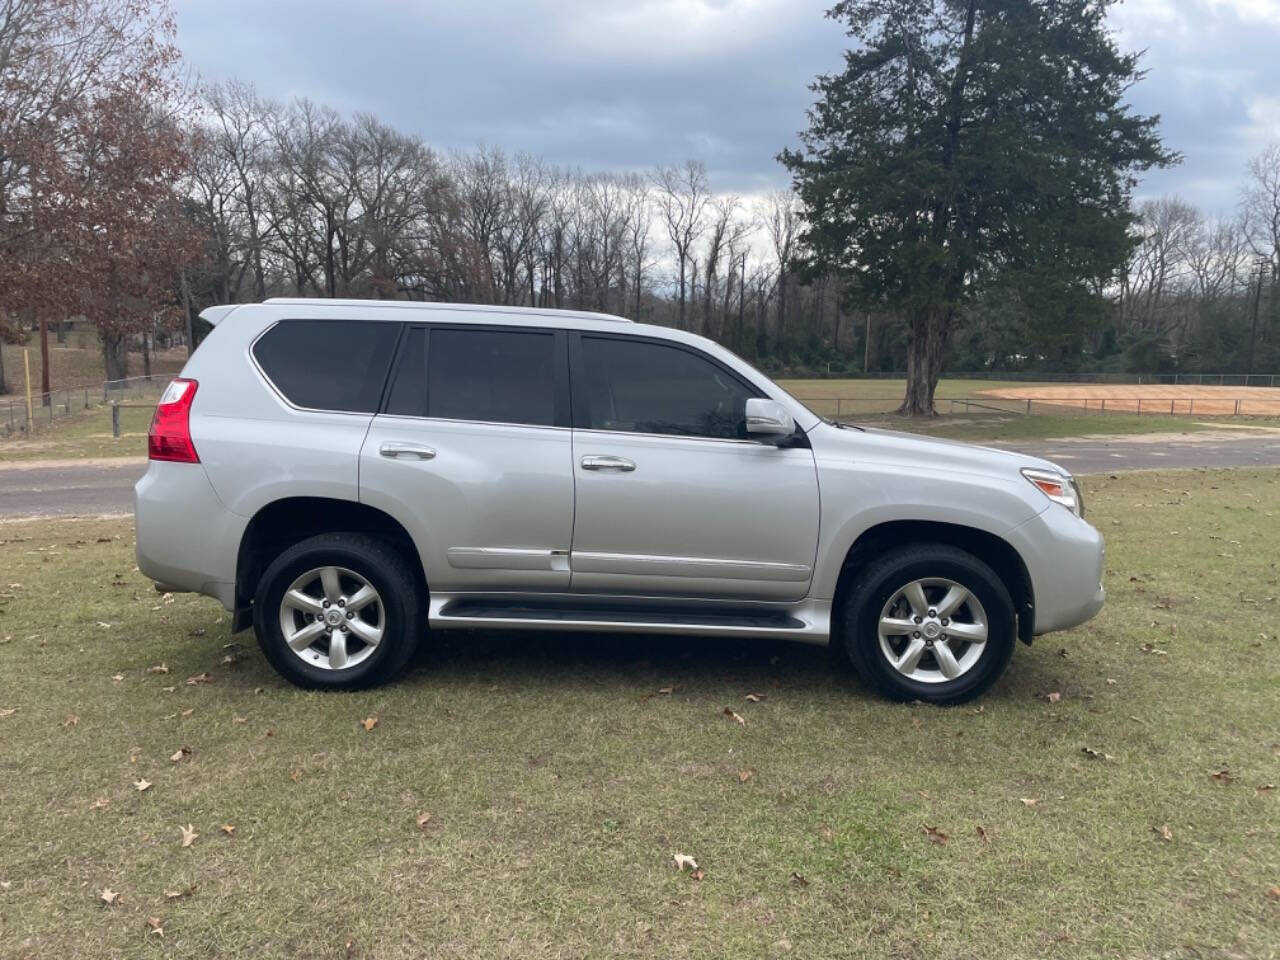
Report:
[[[678,347],[582,338],[593,430],[746,436],[755,394],[716,364]]]

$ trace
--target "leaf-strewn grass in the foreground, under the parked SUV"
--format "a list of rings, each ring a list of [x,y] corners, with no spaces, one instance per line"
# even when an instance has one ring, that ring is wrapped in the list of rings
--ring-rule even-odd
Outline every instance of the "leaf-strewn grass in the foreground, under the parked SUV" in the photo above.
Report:
[[[1087,497],[1102,614],[954,709],[557,635],[307,694],[128,524],[0,525],[0,955],[1275,957],[1280,471]]]

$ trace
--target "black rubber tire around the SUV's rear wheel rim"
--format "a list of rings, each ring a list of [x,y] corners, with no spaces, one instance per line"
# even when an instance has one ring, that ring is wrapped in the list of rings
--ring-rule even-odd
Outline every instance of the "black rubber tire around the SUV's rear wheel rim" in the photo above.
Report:
[[[280,628],[280,603],[293,581],[317,567],[342,567],[364,577],[383,607],[383,637],[360,663],[315,667],[289,649]],[[425,598],[404,558],[366,534],[320,534],[289,547],[262,573],[253,598],[253,632],[271,666],[291,684],[308,690],[362,690],[397,676],[426,632]]]

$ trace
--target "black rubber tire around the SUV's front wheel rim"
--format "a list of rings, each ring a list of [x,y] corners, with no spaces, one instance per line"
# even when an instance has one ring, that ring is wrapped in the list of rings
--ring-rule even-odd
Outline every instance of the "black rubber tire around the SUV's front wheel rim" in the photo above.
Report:
[[[915,580],[945,579],[968,589],[982,604],[987,641],[955,680],[923,682],[900,673],[881,648],[879,621],[893,595]],[[845,653],[858,673],[893,700],[956,704],[972,700],[996,682],[1014,653],[1016,621],[1009,588],[970,553],[940,543],[899,547],[868,562],[854,576],[838,612]],[[908,639],[904,637],[905,643]],[[925,654],[932,658],[932,653]],[[933,663],[922,659],[922,663]]]

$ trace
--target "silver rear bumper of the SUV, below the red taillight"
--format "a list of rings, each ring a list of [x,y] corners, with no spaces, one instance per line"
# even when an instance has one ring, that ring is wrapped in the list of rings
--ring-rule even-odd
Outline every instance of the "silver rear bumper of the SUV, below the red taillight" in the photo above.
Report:
[[[233,609],[236,556],[248,520],[223,506],[205,468],[152,461],[133,498],[138,570]]]

